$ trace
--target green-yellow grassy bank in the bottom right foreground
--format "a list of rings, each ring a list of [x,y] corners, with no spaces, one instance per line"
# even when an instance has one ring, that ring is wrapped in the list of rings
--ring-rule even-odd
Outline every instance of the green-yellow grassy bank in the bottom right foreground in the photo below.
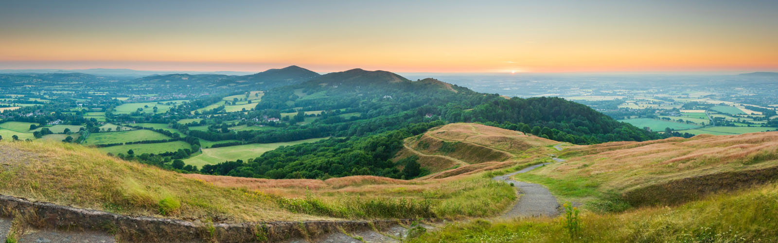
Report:
[[[562,217],[448,224],[407,242],[776,242],[778,186],[710,196],[674,207],[580,216],[571,240]]]

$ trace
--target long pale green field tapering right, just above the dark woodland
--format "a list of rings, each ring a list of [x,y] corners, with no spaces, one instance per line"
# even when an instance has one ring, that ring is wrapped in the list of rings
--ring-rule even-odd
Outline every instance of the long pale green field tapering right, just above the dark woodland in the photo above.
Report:
[[[305,139],[285,143],[251,143],[239,146],[226,146],[213,149],[202,149],[202,154],[184,160],[184,163],[202,167],[205,164],[218,164],[226,160],[247,160],[259,157],[262,153],[275,150],[279,146],[291,146],[300,143],[311,143],[325,139]],[[221,141],[226,142],[226,141]]]

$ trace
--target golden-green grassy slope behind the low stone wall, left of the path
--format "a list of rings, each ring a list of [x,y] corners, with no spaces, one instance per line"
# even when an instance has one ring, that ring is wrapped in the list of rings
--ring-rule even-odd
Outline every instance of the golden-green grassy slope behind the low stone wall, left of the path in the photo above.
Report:
[[[258,179],[178,174],[68,143],[0,142],[0,194],[114,213],[225,222],[486,217],[516,199],[478,175]]]

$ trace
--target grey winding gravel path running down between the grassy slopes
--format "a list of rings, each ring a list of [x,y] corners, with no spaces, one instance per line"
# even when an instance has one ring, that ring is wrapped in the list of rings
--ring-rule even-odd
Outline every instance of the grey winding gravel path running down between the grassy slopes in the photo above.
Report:
[[[561,151],[562,148],[558,144],[554,146],[556,150]],[[552,160],[555,162],[563,162],[560,158],[552,156]],[[555,217],[559,215],[559,203],[556,201],[556,197],[551,195],[548,188],[543,185],[527,183],[524,181],[514,181],[510,179],[513,175],[527,173],[535,168],[545,166],[546,164],[536,164],[531,167],[526,167],[520,171],[516,171],[510,174],[496,176],[493,179],[497,181],[505,181],[506,183],[513,183],[513,186],[518,188],[519,200],[513,205],[513,208],[503,213],[503,218],[516,218],[516,217]]]

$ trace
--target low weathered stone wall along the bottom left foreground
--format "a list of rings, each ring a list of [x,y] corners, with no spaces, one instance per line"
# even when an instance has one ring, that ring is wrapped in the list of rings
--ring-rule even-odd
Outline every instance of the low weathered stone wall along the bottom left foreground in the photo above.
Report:
[[[60,230],[103,231],[121,241],[256,242],[288,238],[315,239],[324,234],[376,227],[383,229],[411,220],[345,220],[300,222],[209,223],[157,217],[135,217],[99,210],[85,210],[53,203],[30,202],[0,195],[0,213],[21,217],[33,227]]]

